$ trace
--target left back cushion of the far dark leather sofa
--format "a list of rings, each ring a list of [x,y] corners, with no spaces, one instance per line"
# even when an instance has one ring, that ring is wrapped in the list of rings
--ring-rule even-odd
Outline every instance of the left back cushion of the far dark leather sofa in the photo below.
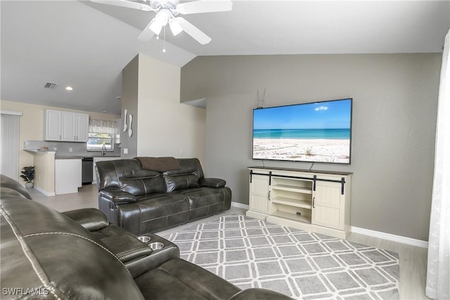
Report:
[[[118,188],[134,196],[165,193],[162,174],[141,168],[137,159],[119,159],[96,163],[98,191]]]

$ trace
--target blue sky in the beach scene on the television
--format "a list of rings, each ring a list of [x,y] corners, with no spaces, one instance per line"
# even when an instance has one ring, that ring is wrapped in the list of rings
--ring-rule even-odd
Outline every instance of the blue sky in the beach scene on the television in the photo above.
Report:
[[[352,100],[333,100],[253,111],[253,129],[347,129]]]

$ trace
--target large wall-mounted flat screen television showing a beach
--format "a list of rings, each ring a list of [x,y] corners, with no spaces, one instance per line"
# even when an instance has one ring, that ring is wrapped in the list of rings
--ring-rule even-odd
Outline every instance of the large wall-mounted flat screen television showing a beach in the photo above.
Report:
[[[352,98],[253,110],[253,159],[350,164]]]

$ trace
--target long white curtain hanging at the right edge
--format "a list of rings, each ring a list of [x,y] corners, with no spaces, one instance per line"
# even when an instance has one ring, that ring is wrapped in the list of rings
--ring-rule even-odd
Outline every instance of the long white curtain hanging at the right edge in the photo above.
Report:
[[[445,37],[437,104],[435,178],[428,238],[426,294],[450,299],[450,31]]]

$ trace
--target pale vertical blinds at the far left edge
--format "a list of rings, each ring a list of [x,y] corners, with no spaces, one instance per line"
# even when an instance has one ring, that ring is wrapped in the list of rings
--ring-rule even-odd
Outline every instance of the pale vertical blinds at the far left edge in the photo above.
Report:
[[[18,112],[1,112],[0,173],[19,180],[19,117]]]

